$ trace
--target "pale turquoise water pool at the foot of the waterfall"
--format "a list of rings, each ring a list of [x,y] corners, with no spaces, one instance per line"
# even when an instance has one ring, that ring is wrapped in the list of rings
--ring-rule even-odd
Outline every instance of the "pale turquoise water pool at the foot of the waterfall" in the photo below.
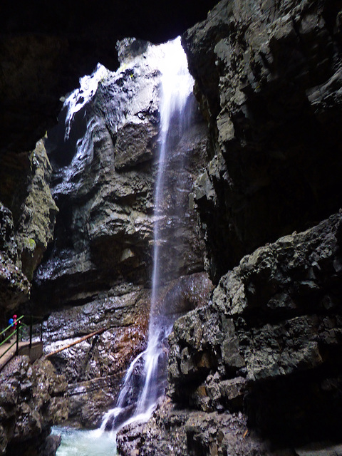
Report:
[[[52,433],[61,435],[56,456],[116,456],[115,435],[100,430],[80,430],[54,426]]]

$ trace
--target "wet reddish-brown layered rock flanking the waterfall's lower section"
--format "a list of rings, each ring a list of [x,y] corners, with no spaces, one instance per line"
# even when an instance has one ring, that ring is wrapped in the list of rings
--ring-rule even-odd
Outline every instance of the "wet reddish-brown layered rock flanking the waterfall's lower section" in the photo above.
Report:
[[[175,318],[207,302],[211,290],[207,274],[182,276],[165,286],[157,311],[164,314],[167,309],[167,318]],[[123,375],[146,348],[149,308],[150,290],[137,289],[53,312],[44,323],[47,355],[70,346],[49,356],[68,382],[69,421],[98,427],[105,412],[113,408]],[[106,330],[71,345],[101,328]],[[137,385],[141,368],[135,373]]]

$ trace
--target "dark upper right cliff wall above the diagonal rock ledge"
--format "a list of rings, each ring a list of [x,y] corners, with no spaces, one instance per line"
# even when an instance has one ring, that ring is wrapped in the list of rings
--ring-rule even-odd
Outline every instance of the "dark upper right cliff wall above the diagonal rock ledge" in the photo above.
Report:
[[[183,37],[211,125],[195,199],[216,281],[340,207],[340,6],[221,1]]]

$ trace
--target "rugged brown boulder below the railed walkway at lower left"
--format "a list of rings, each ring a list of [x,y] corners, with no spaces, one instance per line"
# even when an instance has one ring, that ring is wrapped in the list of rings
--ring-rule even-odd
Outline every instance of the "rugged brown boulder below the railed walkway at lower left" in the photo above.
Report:
[[[17,356],[0,373],[1,455],[44,455],[52,449],[51,425],[68,418],[66,380],[50,361]],[[56,450],[56,449],[55,449]]]

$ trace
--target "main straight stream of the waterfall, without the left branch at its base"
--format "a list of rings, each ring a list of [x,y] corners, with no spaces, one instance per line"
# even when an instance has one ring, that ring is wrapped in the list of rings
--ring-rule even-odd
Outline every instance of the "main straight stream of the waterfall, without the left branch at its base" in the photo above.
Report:
[[[185,104],[193,81],[187,69],[187,58],[180,38],[167,43],[164,61],[161,62],[162,95],[160,103],[160,157],[155,184],[155,227],[153,244],[152,302],[147,350],[145,353],[145,384],[138,401],[137,415],[150,415],[155,408],[160,391],[158,390],[158,360],[165,356],[163,341],[169,335],[173,321],[158,312],[158,290],[162,285],[162,261],[160,247],[163,243],[160,230],[160,214],[165,197],[165,165],[169,147],[168,133],[172,118],[177,115],[182,121]]]

